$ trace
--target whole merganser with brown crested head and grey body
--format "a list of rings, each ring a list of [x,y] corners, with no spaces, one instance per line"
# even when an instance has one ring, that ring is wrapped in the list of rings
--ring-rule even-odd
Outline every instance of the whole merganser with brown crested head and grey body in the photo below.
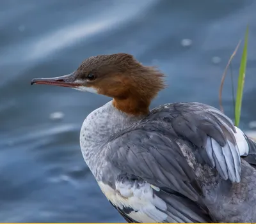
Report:
[[[113,98],[84,120],[80,145],[109,202],[129,223],[256,222],[256,142],[220,110],[149,110],[164,74],[130,54],[89,57],[69,75],[31,84]]]

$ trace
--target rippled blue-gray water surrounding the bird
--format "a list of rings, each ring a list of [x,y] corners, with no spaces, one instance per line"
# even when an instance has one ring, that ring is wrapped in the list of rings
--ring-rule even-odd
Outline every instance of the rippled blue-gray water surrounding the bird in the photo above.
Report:
[[[241,118],[248,130],[256,117],[255,11],[253,0],[0,1],[0,222],[124,221],[79,147],[84,118],[109,99],[30,86],[31,78],[70,73],[88,56],[128,52],[168,75],[169,87],[152,107],[173,101],[218,107],[221,75],[249,23]],[[183,39],[191,45],[182,47]],[[235,78],[241,51],[232,63]],[[230,117],[231,93],[228,76],[223,105]],[[52,121],[58,111],[65,116]]]

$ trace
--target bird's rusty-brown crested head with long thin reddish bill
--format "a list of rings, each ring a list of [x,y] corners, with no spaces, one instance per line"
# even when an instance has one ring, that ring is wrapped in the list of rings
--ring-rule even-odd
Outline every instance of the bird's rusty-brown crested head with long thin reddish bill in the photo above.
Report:
[[[149,112],[152,99],[164,89],[164,75],[155,67],[143,66],[130,54],[89,57],[70,75],[35,78],[31,84],[69,86],[113,98],[113,105],[127,114]]]

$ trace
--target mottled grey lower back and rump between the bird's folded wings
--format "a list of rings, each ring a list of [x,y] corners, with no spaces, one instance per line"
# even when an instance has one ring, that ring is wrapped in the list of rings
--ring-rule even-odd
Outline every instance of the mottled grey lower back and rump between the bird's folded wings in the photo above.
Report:
[[[217,221],[244,223],[256,220],[256,170],[252,165],[242,158],[241,181],[232,183],[223,179],[215,168],[198,159],[189,147],[183,147],[182,153],[202,186],[204,204]]]

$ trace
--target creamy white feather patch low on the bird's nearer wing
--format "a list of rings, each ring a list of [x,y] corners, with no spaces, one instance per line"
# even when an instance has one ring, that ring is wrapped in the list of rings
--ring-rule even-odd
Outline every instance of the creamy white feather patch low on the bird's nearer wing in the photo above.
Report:
[[[141,223],[161,223],[168,218],[163,212],[167,210],[166,203],[154,195],[153,188],[148,183],[116,182],[116,190],[108,184],[102,182],[98,184],[104,195],[116,207],[133,210],[127,214],[133,220]]]

